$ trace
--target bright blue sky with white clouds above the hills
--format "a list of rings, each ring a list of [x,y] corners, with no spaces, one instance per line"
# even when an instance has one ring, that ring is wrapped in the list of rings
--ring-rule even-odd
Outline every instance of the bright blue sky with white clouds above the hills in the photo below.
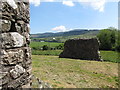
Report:
[[[30,0],[31,33],[118,28],[117,0],[76,1]]]

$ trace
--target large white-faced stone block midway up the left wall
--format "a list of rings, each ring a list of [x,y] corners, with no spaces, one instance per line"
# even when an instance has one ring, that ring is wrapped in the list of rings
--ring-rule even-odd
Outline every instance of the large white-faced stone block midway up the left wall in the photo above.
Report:
[[[14,48],[24,46],[26,40],[25,37],[17,32],[10,32],[0,34],[0,42],[1,48]]]

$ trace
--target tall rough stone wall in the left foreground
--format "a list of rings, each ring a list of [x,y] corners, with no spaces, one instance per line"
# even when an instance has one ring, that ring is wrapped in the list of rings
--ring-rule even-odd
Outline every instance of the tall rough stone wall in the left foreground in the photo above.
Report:
[[[2,88],[30,88],[29,21],[29,2],[0,1],[0,87]]]

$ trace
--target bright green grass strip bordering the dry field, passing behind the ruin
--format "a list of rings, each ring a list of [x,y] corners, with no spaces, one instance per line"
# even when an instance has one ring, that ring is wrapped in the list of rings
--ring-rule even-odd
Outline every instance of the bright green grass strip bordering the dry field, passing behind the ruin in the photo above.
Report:
[[[62,50],[32,50],[32,55],[53,55],[59,56]],[[100,51],[101,58],[104,61],[120,63],[120,53],[115,51]]]

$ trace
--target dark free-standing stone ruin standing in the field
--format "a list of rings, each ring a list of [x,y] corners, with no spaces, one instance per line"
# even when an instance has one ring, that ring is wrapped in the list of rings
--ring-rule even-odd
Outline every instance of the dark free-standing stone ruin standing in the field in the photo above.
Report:
[[[91,39],[69,39],[64,44],[60,58],[101,61],[99,55],[99,41]]]

